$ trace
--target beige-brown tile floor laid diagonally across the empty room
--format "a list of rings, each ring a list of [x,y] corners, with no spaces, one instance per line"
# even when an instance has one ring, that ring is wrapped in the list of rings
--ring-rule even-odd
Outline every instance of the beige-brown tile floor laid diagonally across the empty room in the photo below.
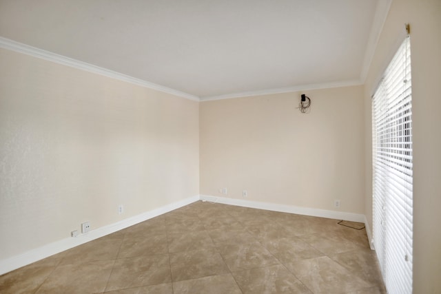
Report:
[[[0,293],[386,293],[365,229],[195,202],[0,276]]]

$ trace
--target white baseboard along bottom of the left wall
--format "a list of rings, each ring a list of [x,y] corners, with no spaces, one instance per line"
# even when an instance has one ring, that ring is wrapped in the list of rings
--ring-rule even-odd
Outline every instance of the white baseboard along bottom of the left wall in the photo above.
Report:
[[[161,214],[167,213],[174,209],[178,209],[179,207],[183,207],[198,200],[200,200],[200,196],[198,195],[186,198],[184,200],[167,204],[163,207],[159,207],[158,209],[147,211],[137,216],[132,216],[131,218],[115,222],[113,224],[108,224],[107,226],[94,229],[92,231],[89,231],[88,233],[80,234],[77,237],[65,238],[57,242],[46,244],[39,248],[26,251],[25,253],[14,255],[10,258],[6,258],[5,260],[0,260],[0,275],[3,275],[3,273],[8,273],[9,271],[13,271],[14,269],[19,269],[21,266],[31,264],[32,262],[37,262],[38,260],[42,260],[43,258],[48,258],[50,255],[60,253],[75,246],[84,244],[97,238],[101,238],[110,233],[114,233],[121,229],[133,226],[134,224],[139,224],[139,222],[150,220],[150,218],[154,218],[156,216],[161,216]]]

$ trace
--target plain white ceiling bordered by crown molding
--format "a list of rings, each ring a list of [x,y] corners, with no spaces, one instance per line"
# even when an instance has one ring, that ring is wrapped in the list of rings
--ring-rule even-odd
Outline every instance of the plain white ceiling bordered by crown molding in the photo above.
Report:
[[[383,2],[0,0],[0,36],[208,100],[362,83]]]

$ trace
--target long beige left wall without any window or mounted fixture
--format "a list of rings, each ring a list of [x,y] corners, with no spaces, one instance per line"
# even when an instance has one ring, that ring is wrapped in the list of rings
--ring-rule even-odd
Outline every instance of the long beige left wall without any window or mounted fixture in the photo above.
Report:
[[[0,67],[0,260],[198,195],[198,102],[3,49]]]

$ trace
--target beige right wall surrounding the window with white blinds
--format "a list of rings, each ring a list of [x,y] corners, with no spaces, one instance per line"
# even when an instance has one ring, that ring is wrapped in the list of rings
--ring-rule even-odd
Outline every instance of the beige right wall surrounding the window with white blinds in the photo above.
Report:
[[[411,25],[413,99],[413,293],[441,293],[441,1],[393,1],[365,85],[367,190],[371,222],[370,96]]]

